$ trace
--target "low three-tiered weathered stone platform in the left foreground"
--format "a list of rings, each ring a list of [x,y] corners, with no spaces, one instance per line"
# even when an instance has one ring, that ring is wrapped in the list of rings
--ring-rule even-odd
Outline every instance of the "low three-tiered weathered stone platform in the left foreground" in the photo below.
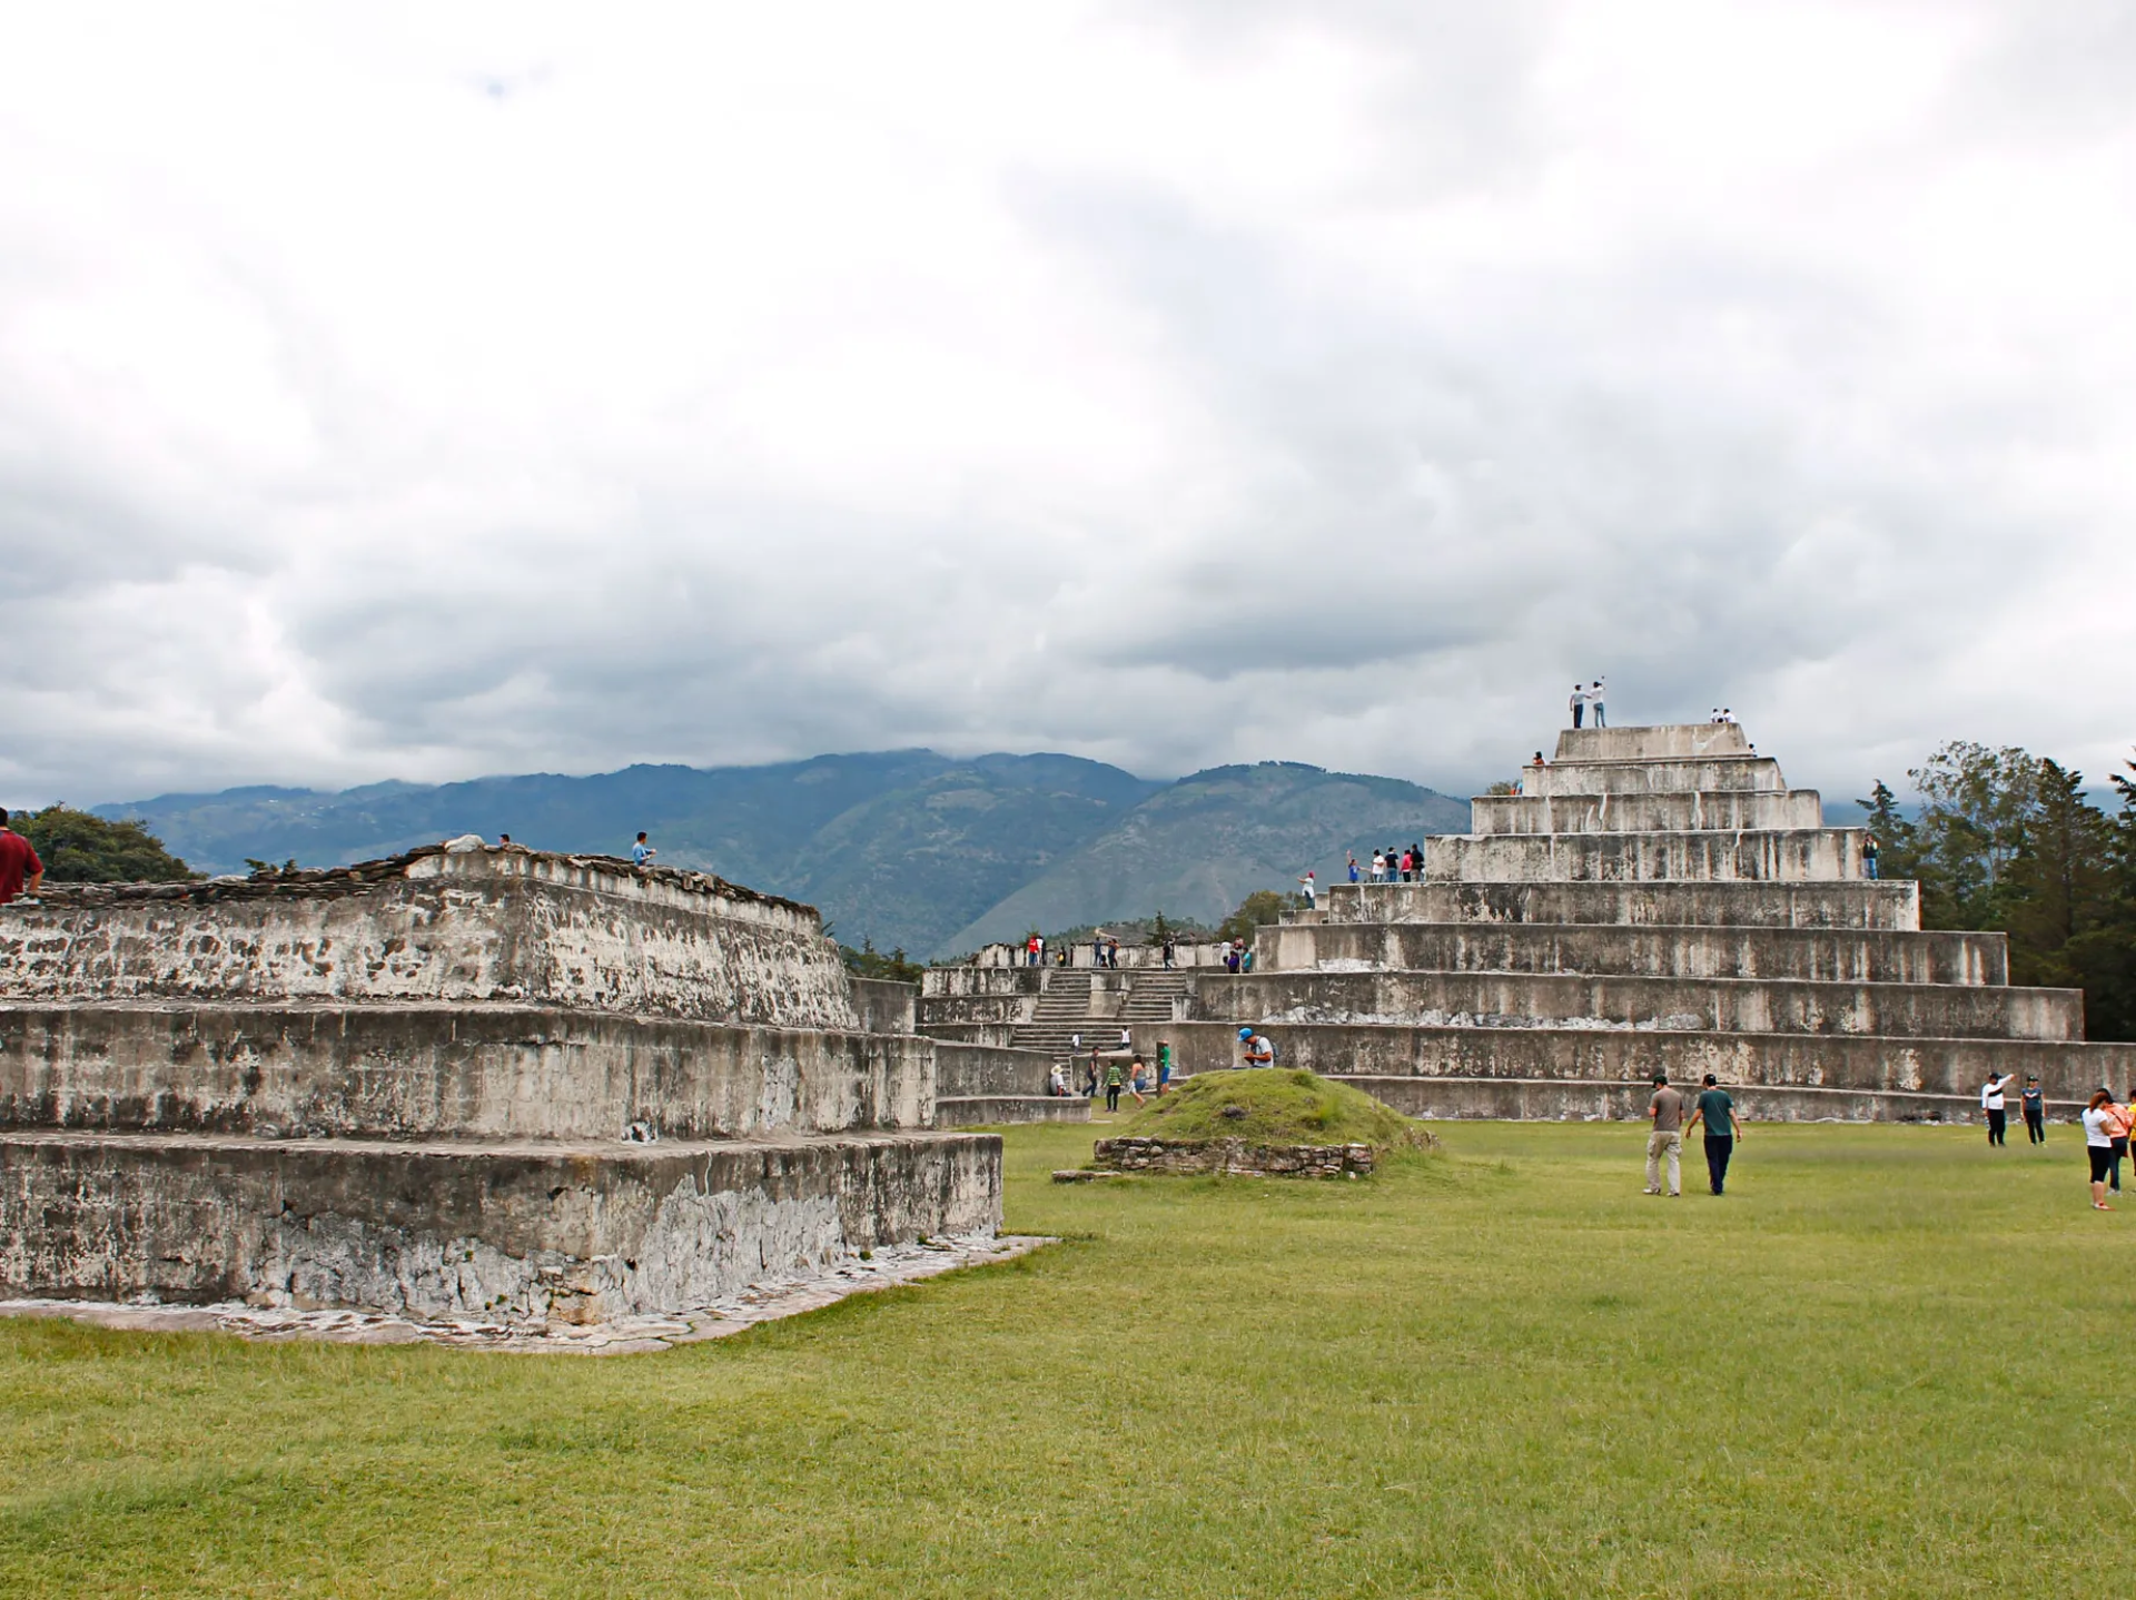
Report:
[[[940,1132],[942,1085],[1012,1111],[1047,1068],[916,1036],[812,908],[703,874],[62,887],[0,908],[0,1292],[684,1312],[991,1235],[1000,1139]]]

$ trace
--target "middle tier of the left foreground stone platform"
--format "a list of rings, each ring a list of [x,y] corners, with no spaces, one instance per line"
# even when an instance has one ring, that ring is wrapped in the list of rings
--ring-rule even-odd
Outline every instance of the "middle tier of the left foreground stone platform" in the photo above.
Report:
[[[380,1139],[925,1128],[938,1049],[553,1006],[0,1004],[0,1126]]]

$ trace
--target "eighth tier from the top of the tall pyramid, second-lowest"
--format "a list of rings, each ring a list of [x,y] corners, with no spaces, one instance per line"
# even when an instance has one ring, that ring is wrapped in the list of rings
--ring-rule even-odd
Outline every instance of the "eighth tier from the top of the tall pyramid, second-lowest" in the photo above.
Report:
[[[1989,1072],[2027,1072],[2053,1100],[2083,1102],[2095,1087],[2136,1083],[2136,1045],[2066,1045],[1989,1038],[1880,1038],[1875,1034],[1709,1034],[1598,1028],[1397,1028],[1376,1023],[1269,1023],[1277,1066],[1322,1077],[1551,1079],[1643,1085],[1668,1072],[1679,1087],[1713,1072],[1728,1085],[1869,1089],[1974,1096]],[[1179,1072],[1239,1064],[1230,1023],[1173,1023]]]

